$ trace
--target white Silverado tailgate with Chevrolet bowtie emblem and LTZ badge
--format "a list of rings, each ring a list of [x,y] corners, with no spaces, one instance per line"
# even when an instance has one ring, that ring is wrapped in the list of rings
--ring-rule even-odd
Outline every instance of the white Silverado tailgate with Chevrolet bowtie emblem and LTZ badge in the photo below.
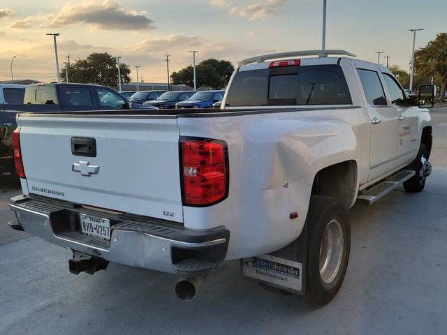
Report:
[[[177,117],[27,114],[17,124],[29,193],[183,221]],[[95,156],[73,151],[82,138]]]

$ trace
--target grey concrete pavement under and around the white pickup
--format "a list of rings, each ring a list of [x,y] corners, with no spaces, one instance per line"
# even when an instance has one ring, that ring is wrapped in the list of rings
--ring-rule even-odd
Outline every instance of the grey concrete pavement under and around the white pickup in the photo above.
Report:
[[[208,276],[190,302],[175,297],[175,276],[155,271],[110,264],[74,276],[70,251],[17,232],[0,245],[0,334],[444,334],[447,108],[432,117],[425,190],[393,191],[349,211],[351,259],[327,306],[265,291],[236,261]],[[0,225],[12,218],[6,198],[19,192],[1,195]]]

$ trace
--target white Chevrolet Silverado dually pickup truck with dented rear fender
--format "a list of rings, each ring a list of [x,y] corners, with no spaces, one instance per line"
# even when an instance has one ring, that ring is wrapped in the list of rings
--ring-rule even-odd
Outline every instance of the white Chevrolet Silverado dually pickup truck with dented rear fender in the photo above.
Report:
[[[354,56],[244,59],[221,110],[20,114],[13,228],[72,249],[74,274],[165,271],[188,300],[240,259],[264,288],[327,304],[348,265],[347,210],[402,183],[422,191],[431,171],[418,104],[432,106],[433,87],[410,99]]]

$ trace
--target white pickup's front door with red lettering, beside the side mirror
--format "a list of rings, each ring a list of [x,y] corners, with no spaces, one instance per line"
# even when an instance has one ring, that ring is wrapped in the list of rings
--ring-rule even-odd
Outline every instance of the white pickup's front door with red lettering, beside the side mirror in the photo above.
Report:
[[[418,107],[409,107],[404,90],[389,73],[382,73],[383,82],[397,114],[397,159],[400,165],[413,160],[419,150]]]

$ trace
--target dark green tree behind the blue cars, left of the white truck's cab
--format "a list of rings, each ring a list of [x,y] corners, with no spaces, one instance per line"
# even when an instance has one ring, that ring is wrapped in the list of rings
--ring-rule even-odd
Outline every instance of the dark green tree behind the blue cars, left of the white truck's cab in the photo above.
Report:
[[[230,61],[205,59],[196,66],[197,87],[212,87],[221,89],[228,84],[235,68]],[[173,84],[186,84],[193,87],[193,67],[191,65],[174,72],[171,75]]]

